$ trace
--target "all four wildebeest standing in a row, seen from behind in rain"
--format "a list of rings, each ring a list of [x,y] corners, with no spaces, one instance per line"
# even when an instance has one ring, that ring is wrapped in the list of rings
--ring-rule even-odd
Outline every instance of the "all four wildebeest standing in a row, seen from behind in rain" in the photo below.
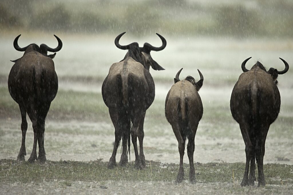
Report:
[[[149,73],[149,68],[164,70],[152,59],[150,52],[163,50],[167,42],[164,37],[157,34],[162,41],[160,47],[154,47],[149,43],[139,47],[137,42],[120,45],[119,40],[123,34],[125,32],[116,37],[115,45],[119,49],[127,50],[127,53],[122,61],[110,66],[109,73],[102,85],[103,100],[109,108],[110,118],[115,127],[114,148],[108,168],[113,168],[116,165],[116,153],[121,139],[122,154],[119,164],[126,165],[128,154],[130,154],[131,139],[135,153],[134,165],[141,169],[145,167],[144,118],[155,97],[155,84]],[[28,113],[34,132],[33,150],[28,161],[44,162],[46,161],[45,119],[58,90],[58,78],[52,60],[56,53],[48,55],[47,52],[60,51],[62,41],[54,35],[58,41],[58,46],[55,49],[45,44],[40,46],[30,44],[21,48],[18,46],[20,36],[15,38],[13,46],[17,51],[24,51],[24,54],[21,58],[12,61],[15,64],[8,77],[9,93],[18,103],[22,118],[22,141],[17,160],[25,160],[25,135],[28,128],[26,113]],[[230,108],[233,118],[239,123],[245,143],[246,165],[241,186],[254,185],[255,160],[258,166],[258,186],[260,186],[265,185],[263,174],[265,139],[270,125],[276,120],[280,111],[281,101],[277,77],[286,73],[289,65],[280,58],[285,64],[285,69],[282,71],[275,68],[266,70],[260,62],[255,63],[251,70],[247,70],[245,64],[249,59],[243,61],[241,65],[243,73],[233,88]],[[174,84],[166,96],[165,115],[178,141],[180,164],[176,181],[181,182],[184,177],[183,156],[185,141],[188,139],[189,178],[191,183],[195,183],[194,139],[197,126],[203,115],[203,105],[198,94],[203,84],[203,75],[198,70],[200,80],[197,82],[192,76],[180,80],[179,75],[182,69],[176,74]],[[38,156],[37,143],[39,146]]]

